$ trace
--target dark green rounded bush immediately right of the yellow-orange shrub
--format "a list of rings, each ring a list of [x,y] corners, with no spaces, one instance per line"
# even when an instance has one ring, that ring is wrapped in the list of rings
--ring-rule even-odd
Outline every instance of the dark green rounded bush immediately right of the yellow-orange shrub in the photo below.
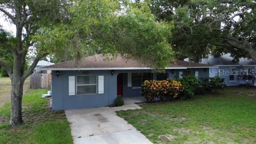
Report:
[[[169,79],[168,79],[169,80]],[[198,93],[197,91],[201,90],[200,80],[196,78],[195,76],[184,76],[182,79],[176,79],[177,81],[180,81],[182,84],[182,97],[183,98],[190,98],[191,96],[194,96],[195,93]]]

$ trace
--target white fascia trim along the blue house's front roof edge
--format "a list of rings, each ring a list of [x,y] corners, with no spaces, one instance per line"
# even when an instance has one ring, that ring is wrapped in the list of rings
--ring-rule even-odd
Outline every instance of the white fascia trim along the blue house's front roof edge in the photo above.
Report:
[[[199,68],[199,67],[191,67]],[[201,68],[201,67],[200,67]],[[209,67],[202,67],[209,68]],[[40,70],[152,70],[153,68],[40,68]],[[187,67],[167,67],[165,69],[187,69]]]

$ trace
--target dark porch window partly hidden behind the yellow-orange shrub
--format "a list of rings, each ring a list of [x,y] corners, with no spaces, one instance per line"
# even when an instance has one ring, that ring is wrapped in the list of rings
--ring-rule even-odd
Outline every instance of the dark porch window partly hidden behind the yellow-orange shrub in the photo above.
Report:
[[[132,73],[132,87],[141,87],[145,80],[152,80],[152,73]]]

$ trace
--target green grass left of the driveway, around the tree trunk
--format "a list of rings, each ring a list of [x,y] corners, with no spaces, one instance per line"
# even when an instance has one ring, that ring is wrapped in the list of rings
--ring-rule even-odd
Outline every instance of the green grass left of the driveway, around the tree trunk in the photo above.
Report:
[[[10,102],[0,108],[0,144],[72,144],[64,111],[49,110],[49,101],[41,98],[47,89],[27,90],[22,100],[24,124],[9,127]]]

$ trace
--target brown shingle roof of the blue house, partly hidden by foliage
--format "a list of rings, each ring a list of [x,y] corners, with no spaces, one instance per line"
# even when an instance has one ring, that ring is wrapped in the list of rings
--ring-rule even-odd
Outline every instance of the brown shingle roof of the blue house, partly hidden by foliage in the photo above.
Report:
[[[176,60],[176,62],[170,62],[170,68],[183,68],[183,67],[209,67],[207,64],[198,64],[195,62],[185,62]],[[82,58],[79,64],[76,64],[76,60],[70,60],[59,64],[53,64],[46,66],[47,69],[58,69],[58,68],[148,68],[145,64],[140,63],[138,60],[123,58],[117,56],[113,60],[105,60],[101,54],[94,56],[88,56]]]

